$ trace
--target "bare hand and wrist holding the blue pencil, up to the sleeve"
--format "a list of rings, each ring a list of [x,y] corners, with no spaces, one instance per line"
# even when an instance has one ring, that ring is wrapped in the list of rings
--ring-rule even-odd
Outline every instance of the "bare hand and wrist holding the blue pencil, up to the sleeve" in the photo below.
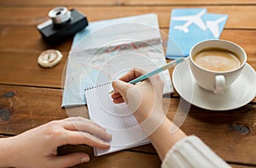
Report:
[[[163,160],[169,149],[186,135],[178,128],[177,132],[171,133],[171,127],[176,126],[166,117],[162,108],[164,82],[160,76],[152,76],[137,85],[125,82],[143,74],[141,70],[131,70],[120,78],[121,81],[113,81],[114,92],[111,96],[113,103],[128,104],[160,159]]]

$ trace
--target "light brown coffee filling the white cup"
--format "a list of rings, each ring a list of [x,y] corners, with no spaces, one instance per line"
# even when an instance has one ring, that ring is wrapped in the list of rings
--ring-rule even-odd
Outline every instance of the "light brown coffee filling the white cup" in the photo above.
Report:
[[[195,64],[204,69],[213,71],[235,70],[241,65],[236,53],[223,48],[207,48],[195,53]]]

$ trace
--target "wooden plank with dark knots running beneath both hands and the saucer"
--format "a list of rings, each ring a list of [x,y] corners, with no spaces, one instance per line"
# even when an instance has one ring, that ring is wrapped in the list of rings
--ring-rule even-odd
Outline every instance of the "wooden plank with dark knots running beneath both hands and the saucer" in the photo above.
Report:
[[[65,118],[67,114],[86,116],[84,106],[73,111],[61,109],[61,90],[36,87],[14,87],[0,85],[0,95],[15,92],[13,98],[1,98],[1,109],[9,108],[13,115],[7,121],[0,122],[0,134],[15,135],[49,120]],[[164,109],[173,120],[179,100],[165,98]],[[171,100],[171,101],[170,101]],[[14,104],[10,107],[11,103]],[[243,164],[254,164],[256,106],[248,104],[230,111],[209,111],[195,106],[189,108],[189,115],[181,128],[188,135],[195,134],[209,145],[224,160]],[[155,153],[154,148],[143,146],[131,151]]]

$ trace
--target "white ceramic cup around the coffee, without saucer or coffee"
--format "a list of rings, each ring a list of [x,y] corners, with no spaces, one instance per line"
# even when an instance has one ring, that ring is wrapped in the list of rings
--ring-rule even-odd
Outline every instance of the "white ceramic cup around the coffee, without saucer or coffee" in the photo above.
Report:
[[[207,48],[221,48],[236,53],[237,57],[241,60],[240,66],[236,69],[227,71],[215,71],[202,68],[195,63],[194,57],[196,53]],[[189,53],[190,68],[195,77],[195,81],[200,87],[212,91],[215,94],[224,94],[224,92],[226,92],[230,85],[236,81],[236,78],[241,74],[241,70],[245,66],[246,61],[247,54],[240,46],[224,40],[207,40],[199,42],[190,49]]]

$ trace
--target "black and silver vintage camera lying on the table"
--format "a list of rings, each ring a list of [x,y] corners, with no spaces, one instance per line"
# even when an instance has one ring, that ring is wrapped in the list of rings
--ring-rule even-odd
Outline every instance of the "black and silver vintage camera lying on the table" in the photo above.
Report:
[[[76,9],[68,10],[65,7],[53,8],[49,11],[49,20],[38,25],[44,40],[51,44],[57,44],[73,36],[88,25],[83,14]]]

